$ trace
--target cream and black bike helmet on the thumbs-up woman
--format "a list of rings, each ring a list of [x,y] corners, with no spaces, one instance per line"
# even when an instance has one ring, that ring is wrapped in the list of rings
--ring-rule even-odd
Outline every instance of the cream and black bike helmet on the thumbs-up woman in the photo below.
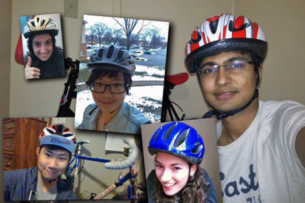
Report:
[[[57,36],[57,24],[49,17],[35,16],[34,19],[28,20],[27,25],[24,27],[23,35],[25,38],[30,38],[44,33]]]

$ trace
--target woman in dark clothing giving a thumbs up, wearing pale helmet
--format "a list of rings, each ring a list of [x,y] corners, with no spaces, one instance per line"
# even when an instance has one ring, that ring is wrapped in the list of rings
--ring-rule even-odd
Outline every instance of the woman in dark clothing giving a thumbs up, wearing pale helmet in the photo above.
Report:
[[[49,17],[35,16],[27,21],[23,32],[27,39],[25,79],[65,76],[64,52],[55,46],[57,24]]]

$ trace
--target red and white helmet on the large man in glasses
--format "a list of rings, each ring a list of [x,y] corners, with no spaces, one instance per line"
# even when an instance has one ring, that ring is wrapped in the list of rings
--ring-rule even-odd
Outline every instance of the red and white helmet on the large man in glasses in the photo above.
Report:
[[[185,48],[185,65],[189,73],[196,73],[199,60],[234,50],[254,53],[263,62],[267,49],[266,37],[257,23],[244,16],[222,14],[206,19],[192,32]]]

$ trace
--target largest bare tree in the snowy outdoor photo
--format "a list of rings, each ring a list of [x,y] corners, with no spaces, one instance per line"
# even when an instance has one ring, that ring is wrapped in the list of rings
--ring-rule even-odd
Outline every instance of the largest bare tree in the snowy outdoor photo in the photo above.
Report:
[[[144,30],[144,28],[149,24],[144,24],[144,20],[139,19],[130,19],[130,18],[124,18],[124,23],[119,22],[117,19],[113,18],[121,28],[123,28],[123,32],[126,36],[126,48],[127,50],[130,49],[130,45],[134,43],[136,39],[141,35],[141,32]],[[139,23],[140,28],[137,32],[133,33],[135,30],[136,25]],[[133,35],[132,35],[133,34]]]

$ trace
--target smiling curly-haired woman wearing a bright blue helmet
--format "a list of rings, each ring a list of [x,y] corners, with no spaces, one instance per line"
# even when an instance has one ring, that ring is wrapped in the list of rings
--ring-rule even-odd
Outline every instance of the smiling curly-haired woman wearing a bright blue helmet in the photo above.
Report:
[[[182,122],[167,123],[151,137],[148,151],[155,170],[147,177],[148,202],[217,202],[214,183],[199,164],[204,143]]]

